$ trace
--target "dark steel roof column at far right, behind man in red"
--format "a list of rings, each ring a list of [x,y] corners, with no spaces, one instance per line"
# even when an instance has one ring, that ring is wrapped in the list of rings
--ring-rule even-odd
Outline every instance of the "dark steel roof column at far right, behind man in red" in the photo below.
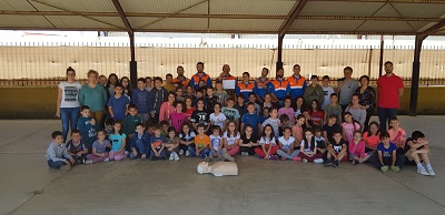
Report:
[[[424,37],[416,35],[413,61],[413,75],[411,80],[409,115],[417,115],[418,82],[421,79],[421,51]]]

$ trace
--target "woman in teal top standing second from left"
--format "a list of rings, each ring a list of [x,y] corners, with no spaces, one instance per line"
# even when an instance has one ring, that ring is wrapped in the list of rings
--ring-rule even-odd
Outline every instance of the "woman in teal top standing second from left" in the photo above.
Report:
[[[87,75],[88,82],[80,89],[79,102],[81,105],[88,105],[90,108],[90,116],[102,127],[102,119],[106,113],[106,104],[108,101],[107,91],[101,84],[98,84],[99,73],[97,71],[90,70]]]

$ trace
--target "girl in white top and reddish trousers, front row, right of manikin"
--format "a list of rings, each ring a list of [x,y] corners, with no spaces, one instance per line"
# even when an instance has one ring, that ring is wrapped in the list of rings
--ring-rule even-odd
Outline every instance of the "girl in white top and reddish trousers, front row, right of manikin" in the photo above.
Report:
[[[278,156],[275,154],[277,153],[279,147],[276,143],[274,129],[271,127],[271,125],[267,124],[264,127],[263,135],[259,139],[258,144],[261,146],[255,149],[255,153],[258,154],[258,158],[278,160]]]

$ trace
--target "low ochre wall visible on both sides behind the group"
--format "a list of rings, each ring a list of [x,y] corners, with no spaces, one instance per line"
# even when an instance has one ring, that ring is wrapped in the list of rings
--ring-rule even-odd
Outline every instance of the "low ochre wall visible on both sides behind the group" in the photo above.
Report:
[[[408,113],[411,89],[400,101],[400,114]],[[445,114],[444,86],[419,88],[418,114]],[[0,88],[0,119],[51,119],[56,113],[56,88]]]

